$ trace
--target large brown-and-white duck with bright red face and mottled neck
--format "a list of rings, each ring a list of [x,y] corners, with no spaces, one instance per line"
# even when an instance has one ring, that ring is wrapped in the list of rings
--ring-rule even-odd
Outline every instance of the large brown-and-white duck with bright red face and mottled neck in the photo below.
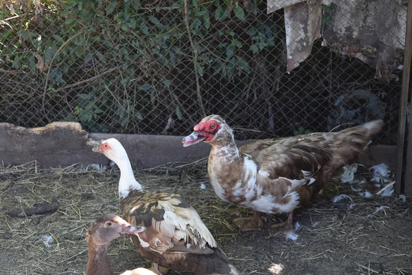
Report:
[[[256,211],[254,217],[236,219],[242,230],[254,230],[262,226],[262,212],[289,213],[282,225],[290,226],[293,210],[308,203],[336,170],[354,162],[382,126],[376,120],[337,133],[259,140],[238,148],[225,120],[209,115],[183,146],[211,144],[211,185],[221,199]]]

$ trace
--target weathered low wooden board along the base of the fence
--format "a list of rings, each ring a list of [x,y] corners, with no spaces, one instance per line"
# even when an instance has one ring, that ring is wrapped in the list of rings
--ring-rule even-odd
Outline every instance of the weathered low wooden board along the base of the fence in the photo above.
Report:
[[[207,157],[209,144],[196,144],[184,148],[181,136],[87,133],[74,122],[54,122],[44,127],[26,129],[0,123],[0,161],[5,166],[21,165],[37,160],[40,167],[65,167],[72,164],[105,164],[108,160],[91,151],[90,140],[115,137],[122,142],[130,161],[143,168],[170,162],[194,162]],[[236,142],[239,146],[252,140]],[[367,166],[387,163],[395,166],[396,146],[371,146],[361,159]]]

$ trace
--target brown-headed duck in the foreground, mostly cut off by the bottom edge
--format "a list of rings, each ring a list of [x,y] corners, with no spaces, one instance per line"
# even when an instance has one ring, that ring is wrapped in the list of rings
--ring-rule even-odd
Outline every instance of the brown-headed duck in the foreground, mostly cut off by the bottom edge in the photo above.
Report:
[[[133,226],[115,214],[104,214],[91,226],[87,232],[89,245],[89,261],[87,275],[113,275],[113,270],[107,256],[108,243],[120,235],[131,235],[144,232],[145,228]],[[156,275],[146,268],[139,267],[127,270],[121,275]]]

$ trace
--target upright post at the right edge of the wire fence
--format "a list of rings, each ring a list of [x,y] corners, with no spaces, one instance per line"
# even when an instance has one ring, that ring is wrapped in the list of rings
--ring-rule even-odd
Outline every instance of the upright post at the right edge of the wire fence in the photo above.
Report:
[[[396,185],[397,194],[405,192],[412,195],[412,120],[409,120],[409,139],[407,144],[407,169],[405,172],[405,181],[402,182],[402,170],[404,164],[404,137],[407,124],[407,103],[409,98],[409,78],[411,76],[411,58],[412,58],[412,0],[408,1],[407,11],[407,33],[405,35],[404,66],[402,74],[402,89],[400,96],[399,111],[399,128],[396,143]],[[411,115],[412,118],[412,115]],[[402,184],[403,183],[403,184]],[[402,186],[403,185],[403,186]],[[404,187],[404,188],[402,188]],[[404,190],[403,190],[404,189]]]

